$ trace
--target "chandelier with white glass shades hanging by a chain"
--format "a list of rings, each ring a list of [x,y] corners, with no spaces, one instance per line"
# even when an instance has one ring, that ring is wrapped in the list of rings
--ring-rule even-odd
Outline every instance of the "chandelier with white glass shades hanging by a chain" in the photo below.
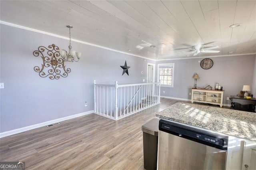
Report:
[[[71,36],[70,36],[70,28],[73,28],[73,26],[67,26],[69,28],[69,45],[68,45],[68,52],[64,49],[60,50],[60,55],[64,61],[79,61],[82,53],[76,52],[75,50],[72,50],[71,46]],[[75,59],[75,56],[77,59]]]

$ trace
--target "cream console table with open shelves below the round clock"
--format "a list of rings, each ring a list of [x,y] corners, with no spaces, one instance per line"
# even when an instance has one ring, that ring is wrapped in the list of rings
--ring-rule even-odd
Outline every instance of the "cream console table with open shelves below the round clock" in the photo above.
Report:
[[[206,89],[192,89],[191,103],[210,103],[212,105],[223,106],[224,91],[206,90]]]

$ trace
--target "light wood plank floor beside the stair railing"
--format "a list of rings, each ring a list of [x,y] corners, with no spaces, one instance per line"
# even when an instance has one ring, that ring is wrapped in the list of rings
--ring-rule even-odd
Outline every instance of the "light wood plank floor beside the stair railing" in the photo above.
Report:
[[[25,161],[26,169],[144,169],[141,126],[177,102],[161,103],[113,121],[96,114],[0,139],[0,161]]]

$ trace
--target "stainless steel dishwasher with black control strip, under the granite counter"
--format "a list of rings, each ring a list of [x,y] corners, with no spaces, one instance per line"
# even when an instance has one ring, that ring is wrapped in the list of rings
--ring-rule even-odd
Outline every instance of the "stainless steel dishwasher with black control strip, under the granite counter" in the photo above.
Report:
[[[224,170],[228,136],[160,120],[158,170]]]

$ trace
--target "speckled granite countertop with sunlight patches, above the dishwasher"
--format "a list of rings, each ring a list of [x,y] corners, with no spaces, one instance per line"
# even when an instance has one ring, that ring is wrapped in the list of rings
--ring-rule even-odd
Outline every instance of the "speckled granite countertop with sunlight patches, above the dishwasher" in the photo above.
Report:
[[[176,103],[157,113],[156,117],[256,142],[256,113]]]

